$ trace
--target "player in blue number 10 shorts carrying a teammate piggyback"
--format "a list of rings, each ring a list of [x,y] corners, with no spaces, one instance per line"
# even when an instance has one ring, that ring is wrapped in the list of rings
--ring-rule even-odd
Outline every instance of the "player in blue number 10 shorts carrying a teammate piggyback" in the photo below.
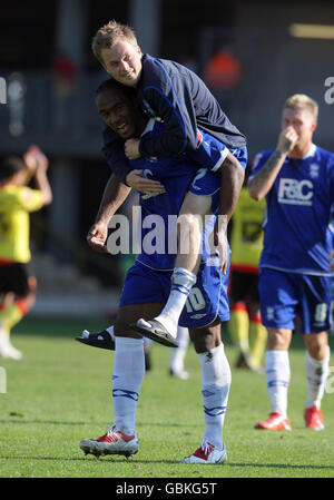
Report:
[[[96,102],[105,122],[122,138],[155,137],[164,131],[164,124],[148,119],[139,108],[127,87],[114,79],[104,82],[97,90]],[[164,184],[164,193],[156,196],[140,194],[141,252],[135,265],[128,271],[114,329],[115,363],[112,375],[114,425],[99,439],[84,439],[80,448],[86,453],[131,455],[138,451],[135,418],[140,385],[145,375],[144,341],[134,325],[139,317],[159,314],[169,293],[170,275],[176,258],[176,248],[169,248],[170,237],[177,232],[176,218],[188,190],[196,190],[212,199],[213,212],[219,203],[219,174],[196,176],[194,160],[185,154],[175,158],[139,158],[130,161],[131,167],[149,173],[153,179]],[[129,194],[130,187],[119,183],[111,175],[102,196],[96,223],[88,234],[89,244],[100,252],[108,252],[108,223]],[[170,219],[174,216],[174,219]],[[150,220],[150,224],[146,224]],[[156,237],[163,235],[163,247],[151,252],[145,242],[149,238],[151,224],[159,226]],[[174,220],[171,224],[170,220]],[[179,324],[189,329],[202,369],[203,410],[205,432],[200,447],[186,463],[224,463],[226,448],[223,441],[223,425],[230,386],[229,363],[220,339],[222,321],[229,317],[227,301],[227,274],[219,271],[217,253],[212,254],[206,245],[213,232],[213,215],[204,229],[204,252],[196,286],[183,310]],[[165,246],[164,246],[165,244]],[[207,249],[208,248],[208,249]],[[169,251],[168,251],[169,249]],[[177,276],[177,284],[185,286],[184,276]],[[170,339],[166,340],[167,345]],[[175,342],[175,345],[176,342]]]

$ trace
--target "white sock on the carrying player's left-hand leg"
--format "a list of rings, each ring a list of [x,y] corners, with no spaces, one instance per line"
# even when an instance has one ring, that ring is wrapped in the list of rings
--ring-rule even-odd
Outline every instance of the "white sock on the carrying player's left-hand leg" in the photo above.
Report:
[[[144,375],[143,339],[116,336],[112,375],[115,425],[125,434],[135,433],[137,402]]]

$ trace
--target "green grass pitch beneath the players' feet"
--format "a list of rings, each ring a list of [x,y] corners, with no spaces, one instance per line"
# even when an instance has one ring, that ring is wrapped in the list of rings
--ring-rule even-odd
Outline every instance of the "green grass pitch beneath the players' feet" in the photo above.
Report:
[[[12,343],[22,350],[23,359],[0,359],[7,374],[7,392],[0,394],[1,478],[334,477],[334,380],[322,404],[325,430],[306,430],[302,335],[295,335],[291,349],[293,430],[271,433],[254,429],[269,412],[265,376],[234,369],[237,353],[224,329],[233,371],[224,430],[226,464],[179,463],[200,444],[204,431],[199,362],[193,345],[186,357],[188,381],[168,375],[169,350],[154,345],[153,370],[145,376],[138,402],[139,452],[129,460],[85,457],[79,441],[98,438],[111,423],[114,353],[79,344],[73,337],[84,327],[105,326],[107,322],[98,320],[32,316],[17,326]],[[333,337],[331,344],[333,351]]]

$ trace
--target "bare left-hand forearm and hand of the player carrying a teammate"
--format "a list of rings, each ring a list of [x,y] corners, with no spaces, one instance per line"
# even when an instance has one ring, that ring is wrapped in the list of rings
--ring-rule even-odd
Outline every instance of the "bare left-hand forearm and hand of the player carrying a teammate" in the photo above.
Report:
[[[126,200],[130,192],[131,188],[129,186],[120,183],[118,178],[111,174],[105,187],[96,220],[87,234],[87,242],[92,249],[108,253],[106,241],[109,220]]]

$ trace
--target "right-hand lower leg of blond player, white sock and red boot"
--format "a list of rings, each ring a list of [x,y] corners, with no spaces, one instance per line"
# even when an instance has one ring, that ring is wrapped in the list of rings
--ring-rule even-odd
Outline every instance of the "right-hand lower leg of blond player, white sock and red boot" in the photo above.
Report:
[[[305,371],[307,378],[307,399],[305,423],[308,429],[324,429],[321,402],[325,392],[330,371],[330,346],[327,332],[304,335],[306,345]]]

